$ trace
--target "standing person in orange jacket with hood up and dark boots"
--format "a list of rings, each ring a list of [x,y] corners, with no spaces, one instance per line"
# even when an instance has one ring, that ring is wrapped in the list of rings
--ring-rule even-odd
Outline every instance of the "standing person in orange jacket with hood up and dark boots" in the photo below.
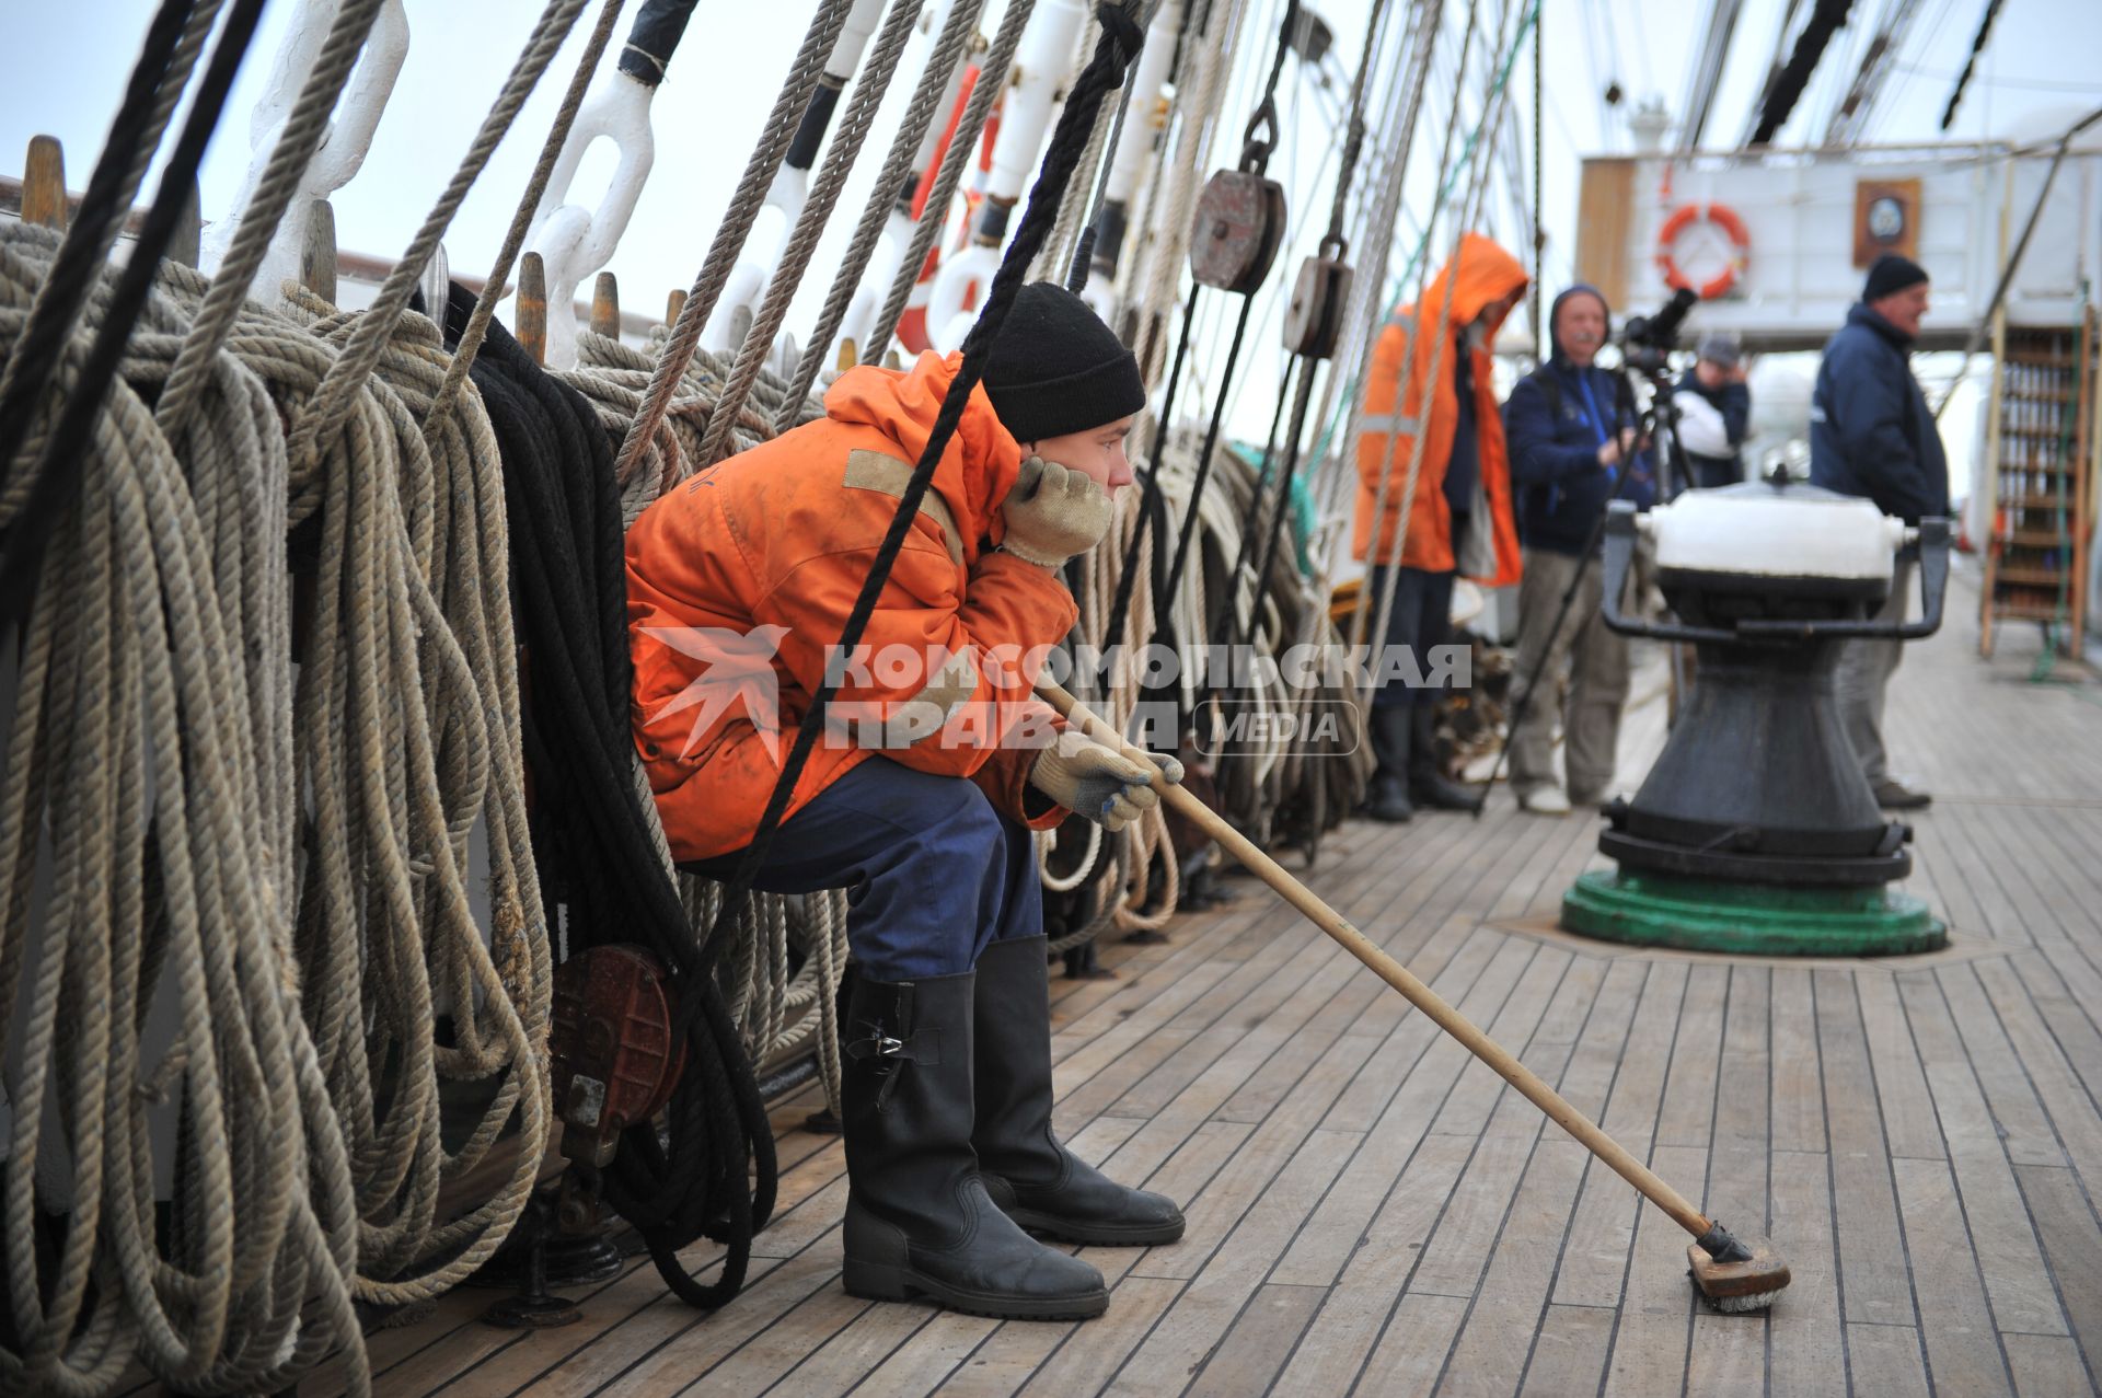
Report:
[[[1434,673],[1429,647],[1444,645],[1450,633],[1452,578],[1465,574],[1486,587],[1507,587],[1520,576],[1511,467],[1490,353],[1497,328],[1528,282],[1516,256],[1480,233],[1463,233],[1459,256],[1438,271],[1419,305],[1394,313],[1373,347],[1358,433],[1354,549],[1360,561],[1373,563],[1364,605],[1377,616],[1379,599],[1394,593],[1385,635],[1389,654],[1415,656],[1425,675]],[[1450,315],[1444,311],[1448,299]],[[1440,351],[1442,317],[1446,343]],[[1408,387],[1400,393],[1404,364]],[[1423,460],[1404,528],[1408,458],[1419,431],[1425,433]],[[1383,500],[1381,467],[1387,473]],[[1396,683],[1389,666],[1377,673],[1385,683],[1375,690],[1366,713],[1379,759],[1366,814],[1408,820],[1419,803],[1474,809],[1474,797],[1436,765],[1436,690]]]

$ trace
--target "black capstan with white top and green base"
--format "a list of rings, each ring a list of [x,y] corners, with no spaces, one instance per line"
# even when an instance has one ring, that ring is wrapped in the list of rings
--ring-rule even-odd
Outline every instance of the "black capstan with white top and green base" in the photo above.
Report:
[[[1623,614],[1637,536],[1675,622]],[[1923,618],[1875,620],[1917,549]],[[1885,820],[1833,692],[1841,645],[1913,641],[1942,622],[1949,521],[1917,530],[1869,500],[1801,484],[1694,490],[1606,519],[1604,618],[1690,643],[1696,679],[1633,801],[1614,801],[1562,925],[1616,942],[1755,954],[1932,950],[1946,929],[1890,891],[1913,870],[1909,824]]]

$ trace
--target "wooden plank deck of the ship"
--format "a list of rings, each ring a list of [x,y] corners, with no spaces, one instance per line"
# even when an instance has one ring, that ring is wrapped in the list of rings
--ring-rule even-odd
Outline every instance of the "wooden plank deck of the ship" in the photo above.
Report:
[[[372,1335],[383,1394],[2085,1394],[2102,1373],[2102,687],[1976,595],[1892,683],[1934,793],[1909,891],[1942,952],[1772,961],[1553,931],[1598,826],[1349,822],[1307,883],[1684,1194],[1795,1270],[1696,1303],[1686,1238],[1253,881],[1112,982],[1053,980],[1057,1125],[1183,1200],[1188,1238],[1087,1249],[1087,1324],[866,1303],[839,1284],[841,1144],[778,1106],[746,1291],[700,1316],[643,1259],[582,1322],[462,1289]],[[1637,685],[1640,687],[1640,685]],[[1640,704],[1635,778],[1663,740]],[[713,1272],[719,1249],[689,1255]],[[324,1392],[320,1377],[303,1385]]]

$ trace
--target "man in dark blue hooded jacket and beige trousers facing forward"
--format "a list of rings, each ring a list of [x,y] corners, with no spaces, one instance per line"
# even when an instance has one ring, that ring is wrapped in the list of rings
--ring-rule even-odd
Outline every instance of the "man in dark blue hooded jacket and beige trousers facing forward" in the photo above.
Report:
[[[1593,286],[1572,286],[1555,296],[1547,328],[1553,353],[1518,381],[1503,406],[1526,563],[1511,704],[1516,711],[1524,700],[1532,675],[1547,700],[1526,704],[1526,721],[1511,734],[1511,793],[1522,809],[1564,816],[1572,803],[1606,799],[1627,704],[1627,637],[1600,616],[1604,563],[1591,547],[1598,521],[1616,492],[1648,509],[1656,484],[1642,452],[1648,444],[1635,439],[1633,402],[1623,402],[1621,381],[1593,364],[1612,330],[1606,299]],[[1623,471],[1633,473],[1625,486]],[[1572,584],[1576,595],[1558,629]],[[1566,793],[1553,772],[1553,696],[1564,675]]]

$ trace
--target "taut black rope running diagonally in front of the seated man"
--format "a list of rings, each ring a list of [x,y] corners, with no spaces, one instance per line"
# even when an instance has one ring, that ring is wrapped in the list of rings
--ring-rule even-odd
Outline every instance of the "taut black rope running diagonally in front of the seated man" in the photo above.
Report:
[[[1080,164],[1080,156],[1087,151],[1095,111],[1110,92],[1125,84],[1125,69],[1129,67],[1131,57],[1139,50],[1139,27],[1120,6],[1099,4],[1095,13],[1101,21],[1101,38],[1095,44],[1095,55],[1074,80],[1066,107],[1059,114],[1057,128],[1051,132],[1051,147],[1045,151],[1036,185],[1030,189],[1028,210],[1022,217],[1022,225],[1015,229],[1007,256],[1001,259],[1001,269],[992,277],[977,324],[971,326],[971,334],[963,341],[963,366],[956,370],[956,378],[950,383],[948,395],[942,399],[942,412],[935,416],[933,431],[927,437],[927,448],[921,452],[919,465],[912,469],[912,479],[906,484],[904,498],[898,500],[898,513],[891,515],[891,526],[883,534],[883,544],[877,549],[877,557],[868,568],[862,593],[853,599],[853,612],[849,612],[847,624],[839,635],[837,647],[841,654],[853,654],[856,645],[862,641],[862,633],[868,629],[868,618],[877,610],[877,599],[883,595],[883,587],[891,576],[891,566],[898,561],[898,553],[912,528],[912,519],[919,515],[921,500],[927,496],[927,488],[933,481],[933,469],[942,460],[942,452],[948,450],[950,437],[956,435],[956,423],[963,418],[963,408],[971,397],[971,389],[975,389],[986,374],[986,359],[992,353],[992,343],[1001,334],[1001,324],[1005,324],[1007,311],[1013,307],[1015,294],[1022,290],[1030,263],[1051,235],[1051,225],[1057,221],[1057,208],[1066,196],[1066,185],[1072,181],[1072,172]],[[801,780],[809,753],[816,748],[818,736],[824,732],[826,708],[837,692],[839,685],[826,679],[818,685],[818,692],[811,694],[809,708],[797,725],[795,746],[788,753],[788,761],[782,765],[780,778],[774,782],[774,795],[767,799],[767,809],[759,818],[753,843],[746,845],[744,858],[738,862],[738,872],[725,889],[723,910],[717,912],[715,927],[710,927],[708,938],[702,944],[704,957],[713,954],[715,948],[721,946],[723,921],[753,889],[753,881],[757,879],[761,864],[765,864],[774,837],[780,830],[780,822],[788,809],[788,799],[795,793],[797,780]],[[685,1005],[681,1005],[681,1013],[683,1011]]]

